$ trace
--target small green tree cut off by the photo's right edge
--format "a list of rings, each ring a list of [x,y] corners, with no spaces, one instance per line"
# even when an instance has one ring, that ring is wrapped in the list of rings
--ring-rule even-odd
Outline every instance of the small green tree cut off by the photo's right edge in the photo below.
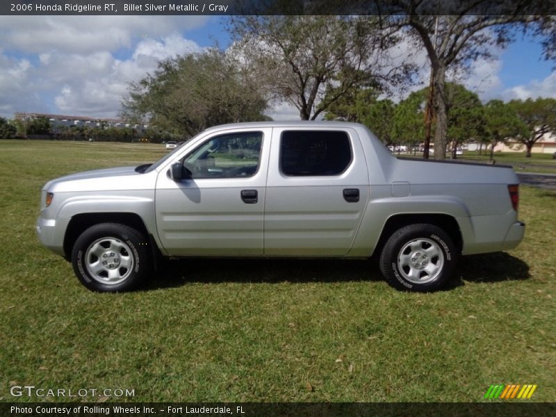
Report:
[[[516,139],[525,145],[525,156],[530,158],[531,149],[537,140],[547,133],[556,133],[556,100],[540,97],[536,100],[512,100],[509,106],[527,125],[528,131]]]

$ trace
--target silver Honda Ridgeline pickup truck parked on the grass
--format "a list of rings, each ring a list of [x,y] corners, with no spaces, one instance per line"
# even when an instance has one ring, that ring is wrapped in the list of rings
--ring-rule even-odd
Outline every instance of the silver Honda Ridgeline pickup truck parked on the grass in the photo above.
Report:
[[[36,231],[95,291],[160,256],[373,254],[395,288],[434,291],[460,255],[518,245],[518,199],[511,167],[395,158],[361,124],[229,124],[152,165],[49,181]]]

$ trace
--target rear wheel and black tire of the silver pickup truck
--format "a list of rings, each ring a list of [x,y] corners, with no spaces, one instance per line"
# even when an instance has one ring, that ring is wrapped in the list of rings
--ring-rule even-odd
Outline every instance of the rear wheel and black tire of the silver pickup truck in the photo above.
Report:
[[[409,224],[386,241],[379,265],[394,288],[427,293],[448,283],[457,258],[457,248],[443,229],[433,224]]]

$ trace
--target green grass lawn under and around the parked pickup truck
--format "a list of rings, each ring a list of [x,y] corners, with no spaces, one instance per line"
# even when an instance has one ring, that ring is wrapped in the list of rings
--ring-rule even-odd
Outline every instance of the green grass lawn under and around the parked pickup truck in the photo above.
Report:
[[[38,400],[10,395],[34,385],[131,401],[472,402],[491,384],[556,400],[555,192],[522,187],[521,246],[465,257],[439,293],[334,260],[172,261],[140,291],[87,291],[35,237],[40,188],[164,154],[0,140],[0,401]]]

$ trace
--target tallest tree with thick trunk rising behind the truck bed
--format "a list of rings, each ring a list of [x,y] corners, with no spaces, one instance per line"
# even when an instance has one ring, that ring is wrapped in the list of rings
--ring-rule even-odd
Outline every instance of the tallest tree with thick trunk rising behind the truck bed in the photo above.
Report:
[[[540,1],[449,2],[445,4],[449,10],[441,16],[437,10],[439,4],[393,0],[386,26],[398,27],[409,34],[416,47],[424,47],[427,51],[431,65],[432,107],[436,118],[434,158],[443,159],[448,133],[446,72],[465,72],[475,60],[492,58],[491,47],[505,47],[516,31],[533,27],[537,33],[546,35],[548,40],[543,44],[546,57],[554,58],[556,54],[550,56],[550,51],[556,48],[549,40],[556,36],[556,19],[532,13],[537,9],[543,10],[545,6]]]

